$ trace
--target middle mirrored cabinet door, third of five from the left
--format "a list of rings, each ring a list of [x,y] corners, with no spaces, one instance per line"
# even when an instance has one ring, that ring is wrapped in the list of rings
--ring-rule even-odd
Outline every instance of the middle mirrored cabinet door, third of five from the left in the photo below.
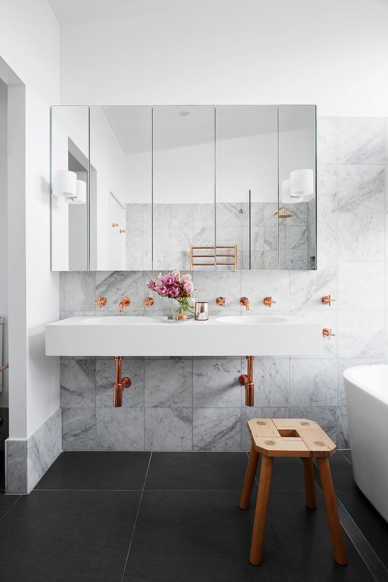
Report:
[[[214,112],[153,107],[153,269],[214,269]]]

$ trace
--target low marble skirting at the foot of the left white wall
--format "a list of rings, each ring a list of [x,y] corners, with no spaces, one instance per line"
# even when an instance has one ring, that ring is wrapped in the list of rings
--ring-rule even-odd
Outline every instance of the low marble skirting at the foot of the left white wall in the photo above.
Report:
[[[30,493],[62,452],[62,410],[28,439],[6,440],[6,493]]]

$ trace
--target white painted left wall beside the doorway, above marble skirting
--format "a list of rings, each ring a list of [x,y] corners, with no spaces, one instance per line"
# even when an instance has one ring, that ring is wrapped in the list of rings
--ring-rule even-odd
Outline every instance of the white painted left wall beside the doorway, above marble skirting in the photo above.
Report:
[[[45,323],[58,319],[59,308],[58,274],[50,272],[49,190],[49,114],[50,105],[58,103],[59,26],[46,0],[1,0],[0,56],[25,84],[25,177],[23,157],[11,162],[13,169],[19,164],[25,208],[21,204],[10,214],[8,240],[12,272],[19,270],[10,292],[21,297],[10,301],[10,437],[26,438],[59,407],[58,361],[47,358],[44,347]],[[10,90],[11,115],[16,114],[17,91]]]

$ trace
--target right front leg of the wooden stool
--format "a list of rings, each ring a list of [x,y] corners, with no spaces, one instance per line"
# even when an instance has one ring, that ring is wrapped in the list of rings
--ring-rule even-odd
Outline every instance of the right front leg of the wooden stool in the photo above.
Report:
[[[325,499],[327,521],[330,529],[330,537],[332,538],[334,560],[338,564],[346,565],[347,557],[345,545],[343,543],[341,524],[338,517],[338,508],[334,494],[329,459],[328,457],[317,457],[316,462],[318,463],[319,477],[321,477],[323,499]]]

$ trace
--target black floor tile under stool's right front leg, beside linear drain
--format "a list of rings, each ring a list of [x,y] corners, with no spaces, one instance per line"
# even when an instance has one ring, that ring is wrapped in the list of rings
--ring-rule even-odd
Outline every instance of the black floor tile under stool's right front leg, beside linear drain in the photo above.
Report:
[[[344,534],[348,564],[334,562],[323,497],[305,508],[304,493],[271,491],[269,515],[292,582],[371,582],[372,578]],[[268,528],[266,530],[266,534]]]

